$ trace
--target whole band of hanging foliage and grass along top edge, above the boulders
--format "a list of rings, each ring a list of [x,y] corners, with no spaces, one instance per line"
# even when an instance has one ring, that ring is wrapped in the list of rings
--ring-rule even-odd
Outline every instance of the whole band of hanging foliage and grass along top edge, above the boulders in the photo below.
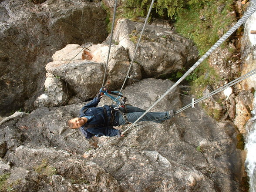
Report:
[[[126,0],[118,7],[116,20],[139,20],[139,16],[147,15],[150,4],[151,0]],[[112,9],[104,3],[101,5],[107,12],[106,23],[110,32]],[[156,0],[151,15],[175,21],[176,31],[193,40],[203,55],[236,20],[233,10],[233,0]]]

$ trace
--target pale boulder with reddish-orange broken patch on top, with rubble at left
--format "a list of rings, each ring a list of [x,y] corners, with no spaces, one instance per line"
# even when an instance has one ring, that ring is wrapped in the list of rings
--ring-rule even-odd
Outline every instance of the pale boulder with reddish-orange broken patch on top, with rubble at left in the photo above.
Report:
[[[49,89],[45,86],[47,95],[52,95],[52,97],[45,99],[45,97],[42,98],[40,96],[36,101],[37,103],[44,103],[44,106],[50,107],[51,101],[57,100],[56,98],[59,95],[60,99],[57,101],[57,104],[61,104],[64,101],[63,96],[66,95],[64,93],[66,88],[64,81],[67,81],[69,95],[75,95],[80,101],[88,100],[95,96],[101,88],[103,81],[108,45],[90,45],[87,48],[89,51],[83,50],[83,47],[79,45],[69,44],[53,55],[54,61],[47,64],[46,70],[53,77],[59,77],[59,79],[46,79],[45,85],[48,87],[50,84],[47,80],[50,82],[53,80],[57,81],[52,86],[54,89]],[[84,59],[85,57],[86,59]],[[129,64],[128,53],[124,47],[112,45],[104,87],[111,91],[120,88],[127,74]],[[141,71],[138,64],[135,64],[131,71],[136,74],[134,76],[136,79],[141,79]],[[131,82],[129,81],[128,83]],[[55,89],[57,84],[60,84],[58,86],[60,91]],[[37,103],[35,105],[39,106]]]

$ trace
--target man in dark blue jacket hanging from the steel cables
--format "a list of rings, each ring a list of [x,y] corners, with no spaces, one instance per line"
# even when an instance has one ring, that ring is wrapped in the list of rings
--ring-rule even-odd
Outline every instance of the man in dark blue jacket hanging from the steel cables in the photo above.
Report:
[[[72,118],[68,121],[69,128],[80,128],[80,131],[86,138],[91,138],[94,135],[100,136],[116,136],[123,137],[121,131],[113,128],[113,126],[125,125],[135,122],[145,110],[125,105],[118,110],[115,110],[116,105],[104,105],[97,107],[101,101],[102,94],[97,96],[84,105],[80,110],[80,115],[77,118]],[[148,112],[139,121],[154,121],[161,123],[175,115],[174,110],[166,112]]]

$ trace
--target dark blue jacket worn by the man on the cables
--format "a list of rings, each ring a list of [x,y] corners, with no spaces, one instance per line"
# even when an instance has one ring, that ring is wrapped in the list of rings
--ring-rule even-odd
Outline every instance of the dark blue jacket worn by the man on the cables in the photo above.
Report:
[[[84,116],[92,116],[92,118],[88,119],[88,121],[82,127],[80,127],[80,131],[84,134],[86,138],[91,138],[94,135],[99,135],[99,136],[105,135],[109,137],[118,135],[119,130],[113,128],[112,126],[109,126],[109,121],[112,115],[111,107],[109,105],[104,105],[103,107],[97,107],[99,102],[100,100],[95,97],[88,104],[84,105],[84,107],[81,108],[80,110],[80,115],[79,115],[80,118]],[[103,108],[106,109],[107,118],[105,118],[105,113]],[[113,115],[115,115],[115,113]],[[117,125],[117,122],[118,121],[114,120],[114,125]],[[85,129],[86,125],[95,125],[95,127]]]

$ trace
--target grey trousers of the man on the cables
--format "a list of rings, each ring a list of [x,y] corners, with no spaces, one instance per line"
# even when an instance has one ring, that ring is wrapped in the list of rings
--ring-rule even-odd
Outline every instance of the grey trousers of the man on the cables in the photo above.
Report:
[[[123,113],[123,115],[120,111],[117,111],[116,115],[118,117],[118,125],[133,123],[145,112],[145,110],[133,107],[131,105],[125,105],[125,108],[119,108],[119,110]],[[161,123],[162,121],[168,119],[170,119],[168,111],[148,112],[139,121],[153,121],[156,123]]]

